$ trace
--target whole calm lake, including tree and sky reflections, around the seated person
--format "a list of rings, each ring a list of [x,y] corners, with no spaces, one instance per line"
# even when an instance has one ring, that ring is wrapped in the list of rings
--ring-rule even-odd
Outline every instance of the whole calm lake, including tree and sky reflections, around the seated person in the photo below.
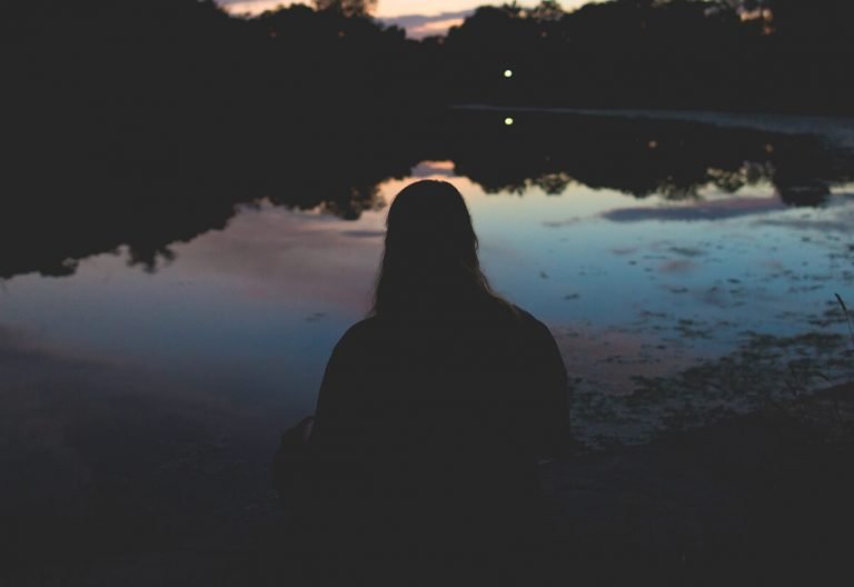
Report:
[[[332,346],[370,307],[387,207],[421,178],[459,188],[494,288],[554,332],[590,446],[854,375],[835,296],[854,307],[854,122],[448,117],[445,136],[262,185],[166,198],[120,177],[82,203],[17,205],[0,452],[23,482],[4,491],[87,508],[96,487],[117,511],[180,518],[201,487],[199,510],[228,510],[227,494],[267,511],[277,436],[314,410]]]

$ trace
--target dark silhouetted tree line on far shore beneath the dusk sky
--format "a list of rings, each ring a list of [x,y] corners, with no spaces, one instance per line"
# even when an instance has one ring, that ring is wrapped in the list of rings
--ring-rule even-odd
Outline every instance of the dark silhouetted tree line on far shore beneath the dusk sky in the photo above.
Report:
[[[356,161],[388,137],[435,140],[446,105],[854,112],[848,0],[547,0],[423,41],[373,19],[375,0],[254,18],[212,0],[0,2],[0,142],[24,179],[8,193],[39,192],[46,169],[119,182]]]

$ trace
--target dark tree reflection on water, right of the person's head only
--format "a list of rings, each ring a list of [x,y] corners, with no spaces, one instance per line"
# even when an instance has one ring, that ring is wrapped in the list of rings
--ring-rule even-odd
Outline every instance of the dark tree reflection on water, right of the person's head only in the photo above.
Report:
[[[772,182],[787,203],[818,203],[816,180],[854,177],[848,157],[840,158],[818,139],[699,123],[606,117],[525,115],[514,127],[491,112],[449,140],[458,173],[487,192],[522,193],[538,186],[547,193],[569,181],[608,188],[637,198],[696,198],[701,188],[734,192]],[[793,189],[793,187],[795,189]],[[802,197],[798,197],[801,195]],[[826,190],[825,190],[826,195]]]

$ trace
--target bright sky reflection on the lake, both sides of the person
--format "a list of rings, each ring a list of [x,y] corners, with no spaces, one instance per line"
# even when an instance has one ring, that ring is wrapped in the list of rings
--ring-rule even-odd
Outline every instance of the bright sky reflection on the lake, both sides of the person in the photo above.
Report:
[[[608,352],[683,365],[732,349],[743,330],[804,330],[834,291],[854,299],[851,190],[822,209],[784,208],[769,186],[708,188],[686,203],[579,185],[560,196],[486,195],[434,161],[380,193],[390,201],[425,177],[460,189],[494,286],[553,327],[570,369],[600,370]],[[173,246],[176,259],[153,275],[120,253],[87,259],[71,277],[11,279],[0,330],[299,415],[335,341],[369,307],[384,218],[248,207],[225,230]],[[681,320],[711,338],[677,336]]]

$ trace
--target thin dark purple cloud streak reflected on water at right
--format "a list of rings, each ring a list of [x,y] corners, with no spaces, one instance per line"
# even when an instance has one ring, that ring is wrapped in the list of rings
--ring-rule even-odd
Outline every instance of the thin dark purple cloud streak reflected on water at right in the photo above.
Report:
[[[694,206],[666,208],[618,208],[603,213],[603,218],[614,222],[640,222],[644,220],[724,220],[742,216],[761,215],[785,209],[778,198],[732,198]]]

